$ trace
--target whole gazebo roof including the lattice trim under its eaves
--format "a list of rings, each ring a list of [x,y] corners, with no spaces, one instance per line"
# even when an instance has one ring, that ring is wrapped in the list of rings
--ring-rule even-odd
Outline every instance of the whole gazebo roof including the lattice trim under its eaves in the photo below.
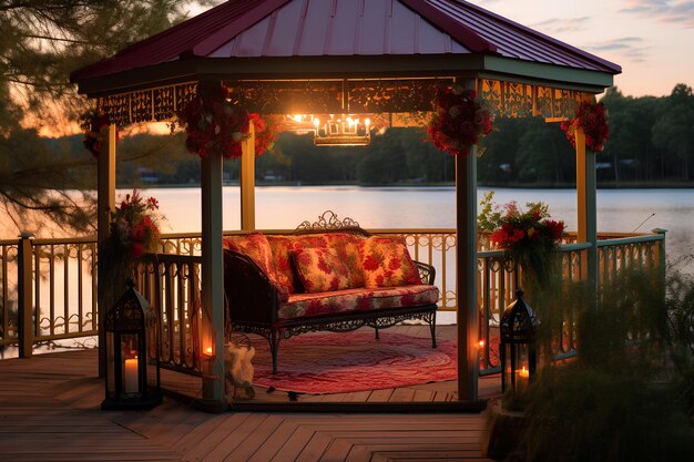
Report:
[[[75,71],[116,123],[166,120],[201,80],[252,112],[411,112],[477,79],[501,115],[563,116],[621,68],[458,0],[231,0]]]

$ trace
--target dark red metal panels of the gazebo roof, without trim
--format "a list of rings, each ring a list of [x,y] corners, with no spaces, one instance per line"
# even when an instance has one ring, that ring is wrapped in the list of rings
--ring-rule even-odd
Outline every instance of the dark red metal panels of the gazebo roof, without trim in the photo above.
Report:
[[[460,0],[229,0],[79,70],[72,81],[201,58],[487,53],[621,68]]]

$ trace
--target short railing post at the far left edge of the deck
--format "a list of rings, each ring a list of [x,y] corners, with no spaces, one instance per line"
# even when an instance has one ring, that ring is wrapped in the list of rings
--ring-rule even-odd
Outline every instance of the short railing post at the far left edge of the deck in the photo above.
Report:
[[[19,357],[30,358],[33,351],[33,265],[31,239],[33,234],[22,233],[18,243],[18,337]]]

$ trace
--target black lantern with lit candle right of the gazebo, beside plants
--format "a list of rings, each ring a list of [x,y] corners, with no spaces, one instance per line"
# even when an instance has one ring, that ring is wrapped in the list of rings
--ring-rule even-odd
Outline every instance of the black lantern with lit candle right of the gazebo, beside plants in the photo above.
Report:
[[[537,367],[534,345],[540,321],[523,300],[523,291],[516,291],[516,300],[501,317],[501,390],[508,387],[522,391],[528,387]]]

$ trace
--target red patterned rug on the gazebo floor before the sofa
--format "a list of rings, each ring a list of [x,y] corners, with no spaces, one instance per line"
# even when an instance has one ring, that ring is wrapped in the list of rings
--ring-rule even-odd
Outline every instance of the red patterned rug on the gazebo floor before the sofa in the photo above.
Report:
[[[315,332],[279,342],[277,376],[272,374],[267,340],[254,337],[253,383],[297,393],[343,393],[456,380],[451,340],[372,330]]]

